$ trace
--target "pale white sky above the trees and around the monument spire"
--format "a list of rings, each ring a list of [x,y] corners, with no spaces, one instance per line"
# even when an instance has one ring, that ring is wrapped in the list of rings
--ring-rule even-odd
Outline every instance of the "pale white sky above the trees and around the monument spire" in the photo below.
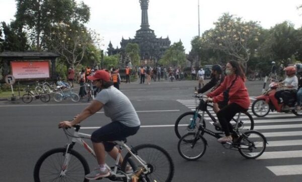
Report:
[[[80,0],[77,0],[80,2]],[[91,17],[88,28],[103,37],[102,49],[109,41],[113,47],[120,47],[122,37],[134,38],[140,29],[141,9],[138,0],[84,0],[90,7]],[[245,21],[259,21],[263,28],[289,21],[295,28],[302,26],[302,5],[300,0],[200,0],[200,35],[213,28],[223,13],[242,17]],[[0,22],[14,20],[14,0],[0,0]],[[149,28],[158,38],[169,36],[171,44],[182,41],[186,53],[191,50],[191,40],[198,35],[198,0],[149,0]]]

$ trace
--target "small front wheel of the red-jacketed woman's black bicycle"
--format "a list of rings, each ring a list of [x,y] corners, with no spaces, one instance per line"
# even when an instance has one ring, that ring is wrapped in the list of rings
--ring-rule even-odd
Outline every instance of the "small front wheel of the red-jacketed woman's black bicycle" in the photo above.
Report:
[[[197,160],[205,153],[206,141],[195,133],[182,136],[177,144],[178,153],[186,160]]]

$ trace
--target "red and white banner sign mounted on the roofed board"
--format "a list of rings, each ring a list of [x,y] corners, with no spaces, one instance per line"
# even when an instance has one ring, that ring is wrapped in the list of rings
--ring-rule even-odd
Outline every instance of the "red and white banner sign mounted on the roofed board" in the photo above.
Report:
[[[16,79],[49,78],[49,60],[11,61]]]

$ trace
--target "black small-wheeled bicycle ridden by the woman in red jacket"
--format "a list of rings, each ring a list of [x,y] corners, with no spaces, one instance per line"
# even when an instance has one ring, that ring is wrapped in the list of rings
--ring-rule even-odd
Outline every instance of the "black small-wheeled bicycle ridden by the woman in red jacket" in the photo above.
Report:
[[[202,111],[206,111],[207,102],[201,102],[199,107],[201,107]],[[226,149],[238,150],[240,154],[246,158],[257,158],[262,155],[267,144],[263,134],[256,130],[249,130],[241,133],[238,126],[239,122],[236,123],[236,126],[233,129],[233,141],[221,143],[222,146]],[[202,157],[207,146],[207,141],[203,137],[205,133],[217,139],[224,135],[222,131],[213,132],[199,123],[197,131],[188,132],[180,138],[177,145],[179,154],[186,160],[197,160]]]

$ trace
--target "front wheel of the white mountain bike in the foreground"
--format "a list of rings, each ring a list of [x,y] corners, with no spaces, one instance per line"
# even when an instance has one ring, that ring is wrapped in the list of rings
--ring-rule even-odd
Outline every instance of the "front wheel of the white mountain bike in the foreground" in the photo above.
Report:
[[[70,149],[70,160],[63,166],[66,148],[55,148],[45,152],[34,168],[35,182],[43,181],[89,181],[85,175],[90,172],[85,158],[77,151]],[[62,169],[65,168],[65,169]]]

